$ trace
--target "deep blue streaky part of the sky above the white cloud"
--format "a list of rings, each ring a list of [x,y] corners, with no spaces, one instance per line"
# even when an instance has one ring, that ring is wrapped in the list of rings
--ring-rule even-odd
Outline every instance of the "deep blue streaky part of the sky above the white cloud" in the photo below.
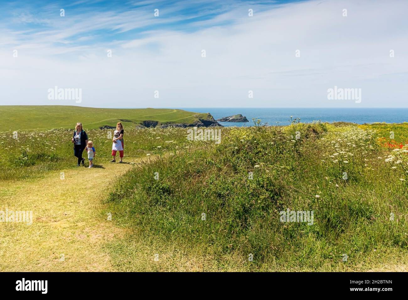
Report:
[[[209,27],[228,27],[239,17],[236,14],[228,17],[228,13],[238,7],[272,9],[291,2],[299,1],[13,1],[4,2],[0,18],[2,27],[17,32],[22,41],[35,40],[32,35],[56,36],[74,27],[75,31],[58,36],[51,44],[86,47],[143,38],[158,30],[193,33]],[[64,18],[60,9],[64,9]],[[155,9],[159,9],[158,17],[154,16]],[[247,17],[248,11],[242,9],[240,15]],[[88,18],[93,22],[80,28]]]

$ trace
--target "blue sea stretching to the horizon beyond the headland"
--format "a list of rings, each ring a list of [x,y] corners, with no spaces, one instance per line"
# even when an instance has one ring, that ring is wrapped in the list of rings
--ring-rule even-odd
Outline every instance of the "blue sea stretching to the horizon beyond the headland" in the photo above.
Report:
[[[176,107],[172,107],[175,109]],[[211,108],[211,107],[177,107],[197,113],[211,113],[215,120],[242,114],[249,122],[219,122],[223,126],[253,126],[253,118],[261,124],[288,125],[292,119],[300,122],[351,122],[371,124],[374,122],[402,123],[408,122],[408,108]]]

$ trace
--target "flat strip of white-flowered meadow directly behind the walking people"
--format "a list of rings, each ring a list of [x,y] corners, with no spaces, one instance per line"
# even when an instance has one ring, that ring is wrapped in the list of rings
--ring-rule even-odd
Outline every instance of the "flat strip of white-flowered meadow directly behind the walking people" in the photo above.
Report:
[[[113,130],[84,130],[94,143],[95,165],[111,160]],[[185,130],[126,126],[124,130],[126,157],[160,155],[164,151],[188,147]],[[74,167],[76,158],[73,156],[72,133],[68,129],[0,133],[0,180],[35,178],[48,171]]]

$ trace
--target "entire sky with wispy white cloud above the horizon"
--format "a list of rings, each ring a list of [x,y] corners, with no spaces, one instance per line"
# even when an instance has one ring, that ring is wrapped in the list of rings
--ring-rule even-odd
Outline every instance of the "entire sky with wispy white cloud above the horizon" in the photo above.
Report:
[[[408,107],[408,1],[0,5],[0,105]]]

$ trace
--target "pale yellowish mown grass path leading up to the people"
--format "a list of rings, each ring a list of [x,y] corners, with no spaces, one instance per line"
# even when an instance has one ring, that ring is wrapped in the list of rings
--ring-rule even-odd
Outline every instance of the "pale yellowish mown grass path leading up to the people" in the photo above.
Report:
[[[103,162],[43,178],[0,182],[0,211],[33,211],[32,224],[0,222],[0,271],[112,271],[101,245],[121,237],[101,213],[106,189],[135,164]]]

